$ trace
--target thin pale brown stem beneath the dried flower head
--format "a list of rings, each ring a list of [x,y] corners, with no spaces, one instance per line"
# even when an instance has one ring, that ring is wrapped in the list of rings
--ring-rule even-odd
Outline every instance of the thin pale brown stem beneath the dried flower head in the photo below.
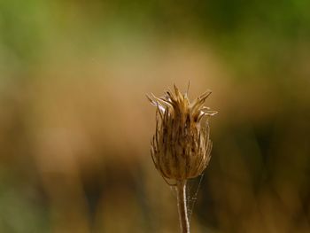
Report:
[[[186,180],[176,182],[177,204],[182,233],[190,233],[190,221],[186,206]]]

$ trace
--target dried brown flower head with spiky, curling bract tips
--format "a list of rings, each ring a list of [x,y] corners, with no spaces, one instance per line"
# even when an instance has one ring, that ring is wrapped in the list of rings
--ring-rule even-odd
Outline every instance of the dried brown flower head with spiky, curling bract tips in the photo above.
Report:
[[[148,97],[156,106],[156,132],[151,140],[151,158],[165,180],[182,181],[201,175],[210,160],[212,142],[209,123],[204,117],[217,112],[203,106],[211,94],[206,91],[190,103],[188,91],[182,94],[174,85],[174,93],[164,97]]]

